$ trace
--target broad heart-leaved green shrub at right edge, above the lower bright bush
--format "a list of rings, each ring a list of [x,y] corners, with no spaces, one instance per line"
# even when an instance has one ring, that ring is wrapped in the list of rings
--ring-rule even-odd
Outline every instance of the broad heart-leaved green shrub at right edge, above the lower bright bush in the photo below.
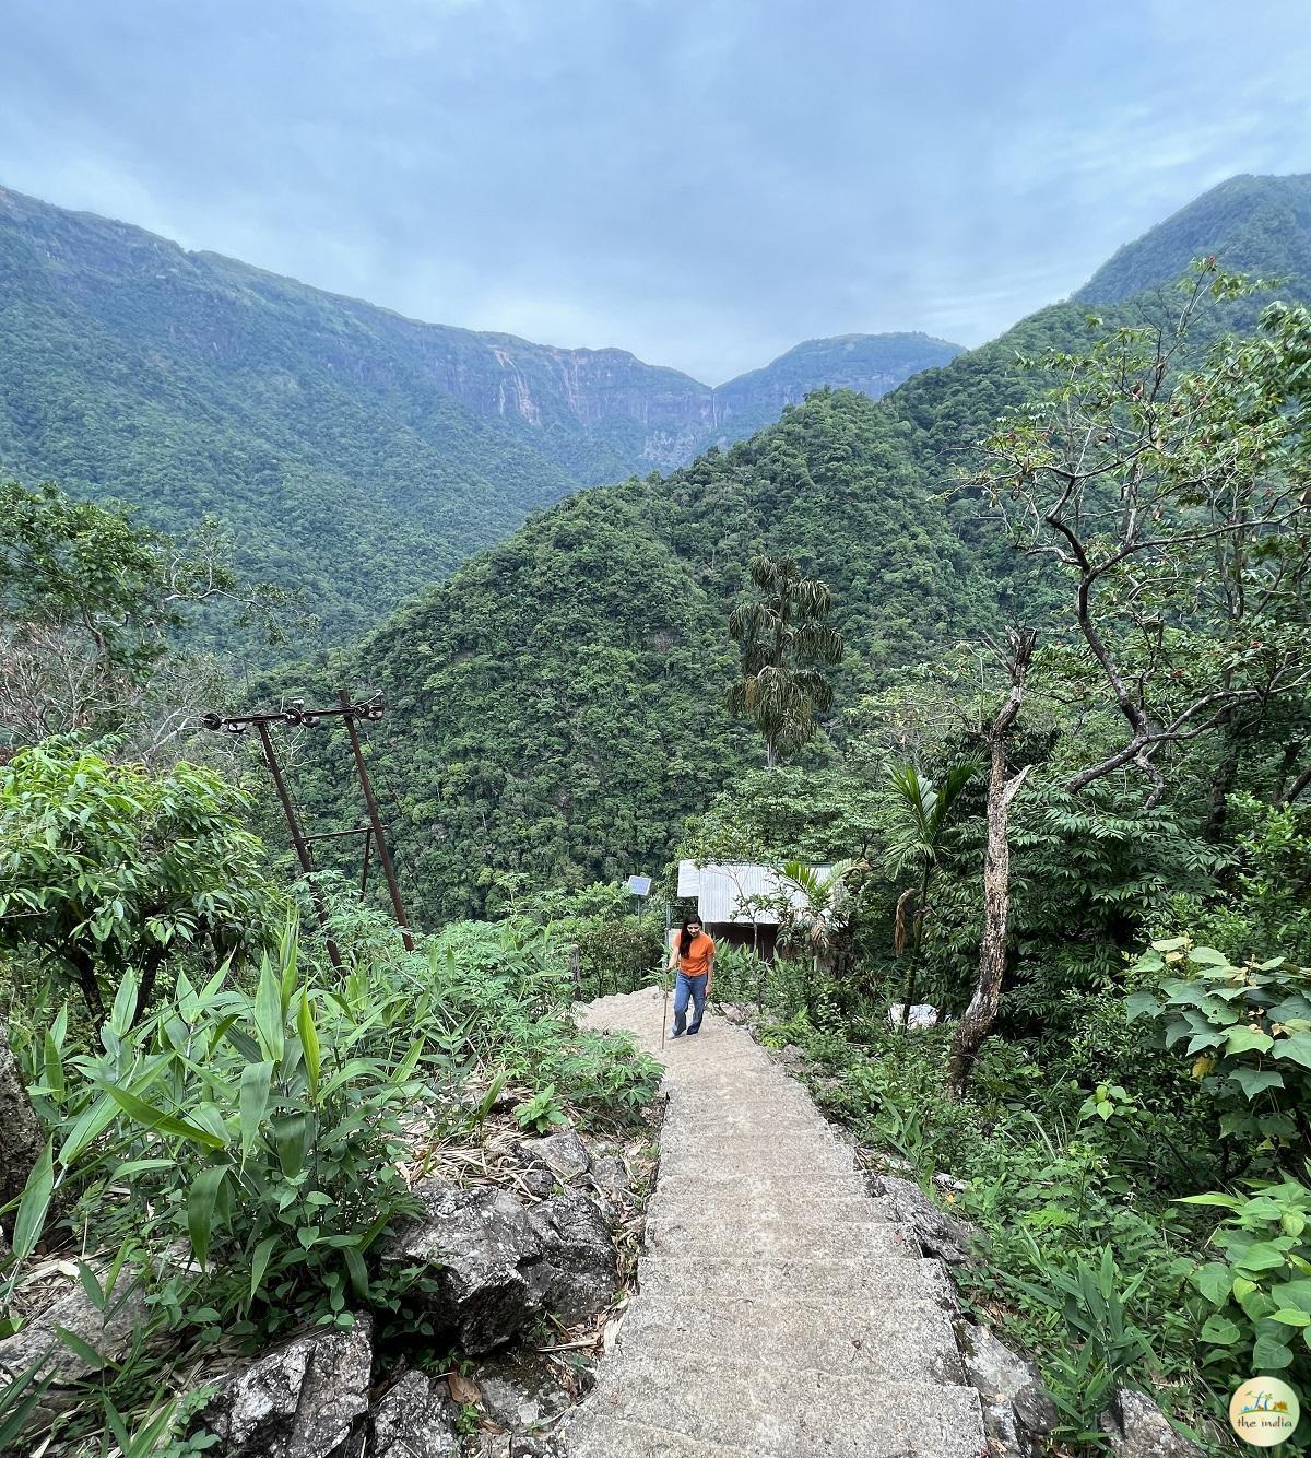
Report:
[[[1273,1155],[1296,1168],[1311,1153],[1311,970],[1282,956],[1234,965],[1177,936],[1152,942],[1135,972],[1148,986],[1129,996],[1129,1019],[1157,1019],[1167,1048],[1189,1040],[1221,1137],[1244,1165]]]

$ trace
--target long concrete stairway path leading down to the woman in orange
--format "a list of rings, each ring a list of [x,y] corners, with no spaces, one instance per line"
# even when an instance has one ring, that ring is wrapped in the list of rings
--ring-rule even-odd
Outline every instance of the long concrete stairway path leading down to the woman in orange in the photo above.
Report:
[[[660,1051],[658,991],[602,997],[666,1064],[647,1250],[615,1352],[558,1429],[570,1458],[979,1458],[945,1271],[741,1028]]]

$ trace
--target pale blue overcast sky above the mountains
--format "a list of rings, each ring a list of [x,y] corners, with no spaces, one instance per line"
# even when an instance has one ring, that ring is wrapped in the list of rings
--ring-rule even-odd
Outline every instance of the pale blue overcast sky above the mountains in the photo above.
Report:
[[[1308,0],[3,0],[0,57],[3,187],[706,383],[1311,172]]]

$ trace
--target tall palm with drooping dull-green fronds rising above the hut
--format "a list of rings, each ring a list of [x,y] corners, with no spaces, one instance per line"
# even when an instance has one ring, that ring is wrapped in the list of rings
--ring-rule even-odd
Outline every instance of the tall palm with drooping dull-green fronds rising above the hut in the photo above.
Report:
[[[816,665],[842,660],[842,634],[826,621],[833,595],[817,577],[803,577],[791,557],[755,557],[750,574],[763,596],[728,615],[728,634],[741,649],[728,707],[755,720],[773,768],[811,738],[816,712],[833,703]]]

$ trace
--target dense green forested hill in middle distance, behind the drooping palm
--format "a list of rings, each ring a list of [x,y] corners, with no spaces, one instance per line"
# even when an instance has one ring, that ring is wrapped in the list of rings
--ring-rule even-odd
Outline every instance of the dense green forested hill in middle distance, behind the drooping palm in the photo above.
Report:
[[[1250,232],[1216,217],[1215,251]],[[1152,308],[1138,296],[1117,316]],[[1015,356],[1088,338],[1087,308],[1055,305],[878,402],[816,394],[664,480],[580,493],[393,615],[338,672],[393,706],[374,754],[408,894],[446,916],[488,907],[489,870],[583,884],[658,869],[682,819],[760,758],[723,706],[725,620],[756,553],[833,589],[840,707],[998,612],[1040,621],[1050,579],[956,487],[989,424],[1044,383]],[[335,771],[306,752],[307,805],[345,814]]]

